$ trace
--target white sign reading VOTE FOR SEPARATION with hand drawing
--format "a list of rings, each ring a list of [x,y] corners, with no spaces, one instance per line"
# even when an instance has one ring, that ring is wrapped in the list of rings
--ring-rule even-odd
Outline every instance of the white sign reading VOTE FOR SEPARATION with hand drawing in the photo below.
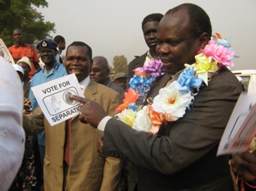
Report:
[[[82,104],[69,98],[70,95],[84,97],[74,74],[48,81],[31,89],[50,125],[57,125],[79,114]]]

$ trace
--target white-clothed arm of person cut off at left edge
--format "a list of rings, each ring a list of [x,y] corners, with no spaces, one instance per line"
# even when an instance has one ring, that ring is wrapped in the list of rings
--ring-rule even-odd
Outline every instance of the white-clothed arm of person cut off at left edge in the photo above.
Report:
[[[0,190],[8,190],[23,160],[23,87],[13,66],[0,56]]]

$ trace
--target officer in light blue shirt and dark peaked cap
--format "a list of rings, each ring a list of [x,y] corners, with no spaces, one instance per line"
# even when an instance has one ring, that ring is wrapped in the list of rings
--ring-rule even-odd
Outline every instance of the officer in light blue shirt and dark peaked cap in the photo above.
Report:
[[[56,61],[57,54],[57,43],[52,39],[43,39],[38,42],[37,49],[40,53],[41,59],[44,62],[45,66],[43,69],[37,71],[32,78],[31,87],[38,86],[48,81],[55,80],[59,77],[66,76],[67,71],[63,64],[60,64]],[[33,110],[36,109],[38,105],[38,101],[33,95],[33,91],[29,93],[29,99],[31,100]],[[38,135],[38,144],[40,151],[41,163],[43,166],[43,158],[45,153],[45,135],[44,131]]]

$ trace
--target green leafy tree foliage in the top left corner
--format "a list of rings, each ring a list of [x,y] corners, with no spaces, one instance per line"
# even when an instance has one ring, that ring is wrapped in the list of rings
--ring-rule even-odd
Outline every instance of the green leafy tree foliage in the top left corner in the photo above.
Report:
[[[0,0],[0,37],[7,47],[13,45],[13,29],[22,28],[24,42],[34,44],[55,32],[54,22],[44,22],[33,7],[48,7],[46,0]]]

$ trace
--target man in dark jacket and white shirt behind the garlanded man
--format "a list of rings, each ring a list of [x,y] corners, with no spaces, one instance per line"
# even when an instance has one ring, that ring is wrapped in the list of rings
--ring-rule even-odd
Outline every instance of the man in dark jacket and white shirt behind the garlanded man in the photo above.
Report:
[[[158,59],[158,54],[156,52],[156,46],[158,42],[156,34],[158,32],[158,23],[162,17],[163,15],[161,13],[153,13],[147,17],[144,17],[142,22],[143,37],[149,50],[142,56],[136,56],[136,58],[134,58],[133,61],[128,64],[128,80],[133,77],[133,70],[135,68],[148,65],[148,61]]]

